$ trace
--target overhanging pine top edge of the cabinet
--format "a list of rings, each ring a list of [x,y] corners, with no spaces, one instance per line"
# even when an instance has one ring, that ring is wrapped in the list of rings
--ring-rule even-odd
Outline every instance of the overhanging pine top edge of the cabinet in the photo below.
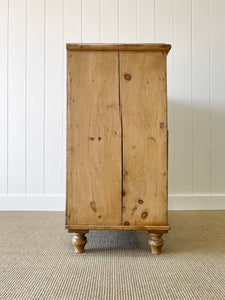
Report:
[[[75,51],[165,51],[169,52],[169,44],[66,44],[67,50]]]

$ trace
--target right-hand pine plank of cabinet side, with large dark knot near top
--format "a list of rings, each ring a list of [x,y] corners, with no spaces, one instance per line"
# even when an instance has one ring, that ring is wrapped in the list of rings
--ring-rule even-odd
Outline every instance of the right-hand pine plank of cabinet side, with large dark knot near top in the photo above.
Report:
[[[167,224],[166,54],[120,52],[123,224]]]

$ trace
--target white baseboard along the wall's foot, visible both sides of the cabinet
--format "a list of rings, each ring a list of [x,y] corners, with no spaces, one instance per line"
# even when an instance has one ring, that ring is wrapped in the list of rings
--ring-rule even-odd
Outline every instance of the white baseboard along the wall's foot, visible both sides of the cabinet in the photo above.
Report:
[[[225,194],[169,195],[169,210],[224,210]],[[0,211],[64,211],[64,195],[0,195]]]

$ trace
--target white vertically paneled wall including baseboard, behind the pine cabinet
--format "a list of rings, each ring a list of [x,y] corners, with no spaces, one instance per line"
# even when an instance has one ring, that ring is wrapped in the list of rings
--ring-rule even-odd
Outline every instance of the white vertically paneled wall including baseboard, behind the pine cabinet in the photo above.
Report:
[[[0,209],[63,210],[66,49],[171,43],[170,209],[225,209],[224,0],[0,0]]]

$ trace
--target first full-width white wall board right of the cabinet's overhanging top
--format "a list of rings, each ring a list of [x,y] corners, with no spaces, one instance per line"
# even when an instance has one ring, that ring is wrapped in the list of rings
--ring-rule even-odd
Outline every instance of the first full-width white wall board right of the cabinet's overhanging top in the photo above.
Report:
[[[191,1],[175,0],[174,5],[174,192],[191,194]]]

